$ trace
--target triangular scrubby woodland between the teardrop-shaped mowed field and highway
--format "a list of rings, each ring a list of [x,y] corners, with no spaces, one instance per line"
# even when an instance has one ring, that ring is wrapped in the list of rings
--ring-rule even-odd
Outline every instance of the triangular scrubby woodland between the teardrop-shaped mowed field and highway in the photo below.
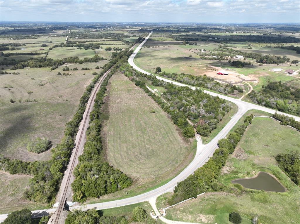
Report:
[[[175,86],[158,80],[155,76],[132,71],[128,67],[122,68],[122,71],[171,115],[174,124],[182,130],[183,135],[187,138],[193,138],[195,134],[194,127],[188,123],[187,118],[194,123],[196,131],[200,135],[208,136],[231,109],[231,105],[225,100],[205,94],[200,89],[192,90],[188,87]],[[140,76],[151,80],[153,86],[164,87],[166,91],[162,96],[167,102],[150,92],[145,83],[139,80]]]

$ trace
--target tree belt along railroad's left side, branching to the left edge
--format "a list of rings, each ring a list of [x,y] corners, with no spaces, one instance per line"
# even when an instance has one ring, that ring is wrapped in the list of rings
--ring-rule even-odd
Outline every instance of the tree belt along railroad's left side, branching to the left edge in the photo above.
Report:
[[[61,182],[64,170],[67,168],[71,152],[74,148],[76,133],[92,89],[105,72],[120,59],[125,58],[126,60],[131,54],[132,51],[119,52],[118,57],[105,64],[101,72],[99,72],[85,88],[85,92],[79,100],[77,112],[72,120],[66,124],[61,143],[57,144],[54,149],[51,149],[51,159],[49,161],[24,162],[17,159],[11,160],[3,156],[0,157],[0,167],[3,170],[8,171],[10,174],[24,173],[33,176],[30,181],[30,188],[25,192],[26,198],[39,203],[54,202],[59,189],[59,183]]]

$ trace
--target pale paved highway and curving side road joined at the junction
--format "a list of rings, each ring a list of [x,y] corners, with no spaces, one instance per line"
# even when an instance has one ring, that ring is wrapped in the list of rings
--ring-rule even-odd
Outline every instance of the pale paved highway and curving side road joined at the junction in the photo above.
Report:
[[[137,49],[134,51],[134,53],[128,59],[129,64],[131,66],[133,66],[133,68],[135,68],[136,70],[138,70],[140,72],[146,73],[146,74],[151,74],[151,73],[146,72],[143,69],[137,67],[134,64],[133,60],[134,60],[134,57],[136,56],[136,54],[140,51],[141,47],[147,41],[147,39],[149,38],[149,36],[151,34],[152,34],[152,32],[137,47]],[[191,89],[196,89],[196,87],[194,87],[194,86],[189,86],[189,85],[186,85],[186,84],[178,83],[178,82],[175,82],[173,80],[165,79],[165,78],[160,77],[160,76],[156,76],[156,77],[160,80],[164,80],[165,82],[173,83],[173,84],[178,85],[178,86],[188,86]],[[143,193],[143,194],[133,196],[133,197],[129,197],[129,198],[125,198],[125,199],[114,200],[114,201],[110,201],[110,202],[102,202],[102,203],[95,203],[95,204],[81,205],[81,206],[71,206],[69,208],[69,210],[74,210],[74,209],[78,209],[78,208],[80,208],[82,210],[87,210],[87,209],[91,209],[91,208],[96,208],[96,209],[115,208],[115,207],[120,207],[120,206],[124,206],[124,205],[135,204],[135,203],[138,203],[138,202],[149,201],[149,199],[156,198],[157,196],[159,196],[163,193],[166,193],[167,191],[171,191],[177,185],[177,182],[180,182],[180,181],[184,180],[187,176],[192,174],[197,168],[199,168],[203,164],[205,164],[205,162],[208,160],[208,158],[214,153],[214,150],[217,148],[218,140],[220,140],[221,138],[224,138],[228,134],[230,129],[232,129],[232,127],[238,122],[238,120],[241,118],[242,115],[244,115],[245,112],[247,112],[250,109],[257,109],[257,110],[265,111],[265,112],[268,112],[268,113],[276,112],[273,109],[269,109],[269,108],[259,106],[259,105],[256,105],[256,104],[244,102],[244,101],[241,101],[239,99],[235,99],[235,98],[232,98],[232,97],[229,97],[229,96],[226,96],[226,95],[210,92],[210,91],[207,91],[207,90],[204,90],[204,92],[209,94],[209,95],[218,96],[222,99],[225,99],[225,100],[228,100],[228,101],[231,101],[231,102],[235,103],[238,106],[238,112],[235,115],[232,116],[232,119],[217,134],[217,136],[214,137],[208,144],[202,145],[200,137],[196,136],[197,150],[196,150],[195,158],[178,176],[174,177],[167,184],[165,184],[161,187],[158,187],[158,188],[156,188],[152,191],[149,191],[147,193]],[[289,114],[282,113],[282,112],[278,112],[278,113],[284,114],[284,115],[289,115]],[[300,117],[293,116],[293,115],[289,115],[289,116],[295,118],[295,120],[297,120],[297,121],[300,121]],[[56,211],[56,208],[32,211],[32,213],[33,213],[34,216],[40,217],[42,215],[53,213],[55,211]],[[0,222],[3,221],[6,217],[7,217],[7,214],[0,215]]]

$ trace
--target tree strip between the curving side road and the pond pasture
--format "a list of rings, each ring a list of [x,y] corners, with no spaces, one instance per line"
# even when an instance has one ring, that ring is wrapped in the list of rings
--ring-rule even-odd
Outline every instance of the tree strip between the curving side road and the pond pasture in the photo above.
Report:
[[[231,132],[227,138],[220,139],[218,141],[219,148],[214,151],[213,156],[194,174],[177,183],[174,194],[169,200],[170,205],[190,197],[196,197],[205,191],[223,191],[225,189],[225,186],[217,182],[216,178],[220,174],[221,167],[225,165],[228,155],[234,152],[253,117],[253,115],[247,116],[244,123]]]

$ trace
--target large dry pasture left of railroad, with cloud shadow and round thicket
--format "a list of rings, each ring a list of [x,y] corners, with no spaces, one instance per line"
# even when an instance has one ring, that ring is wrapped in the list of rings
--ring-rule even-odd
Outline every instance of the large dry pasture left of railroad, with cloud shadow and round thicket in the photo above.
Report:
[[[85,86],[94,77],[92,72],[101,71],[95,67],[105,63],[107,61],[68,65],[79,71],[62,71],[65,66],[61,66],[53,71],[50,68],[24,68],[13,70],[19,75],[1,74],[0,154],[25,161],[48,160],[49,150],[41,154],[30,153],[27,144],[37,137],[48,138],[53,147],[60,142],[65,124],[75,114]],[[81,71],[82,67],[93,69]],[[7,72],[11,71],[7,69]],[[71,75],[58,76],[58,72]],[[10,103],[10,99],[15,102]]]

